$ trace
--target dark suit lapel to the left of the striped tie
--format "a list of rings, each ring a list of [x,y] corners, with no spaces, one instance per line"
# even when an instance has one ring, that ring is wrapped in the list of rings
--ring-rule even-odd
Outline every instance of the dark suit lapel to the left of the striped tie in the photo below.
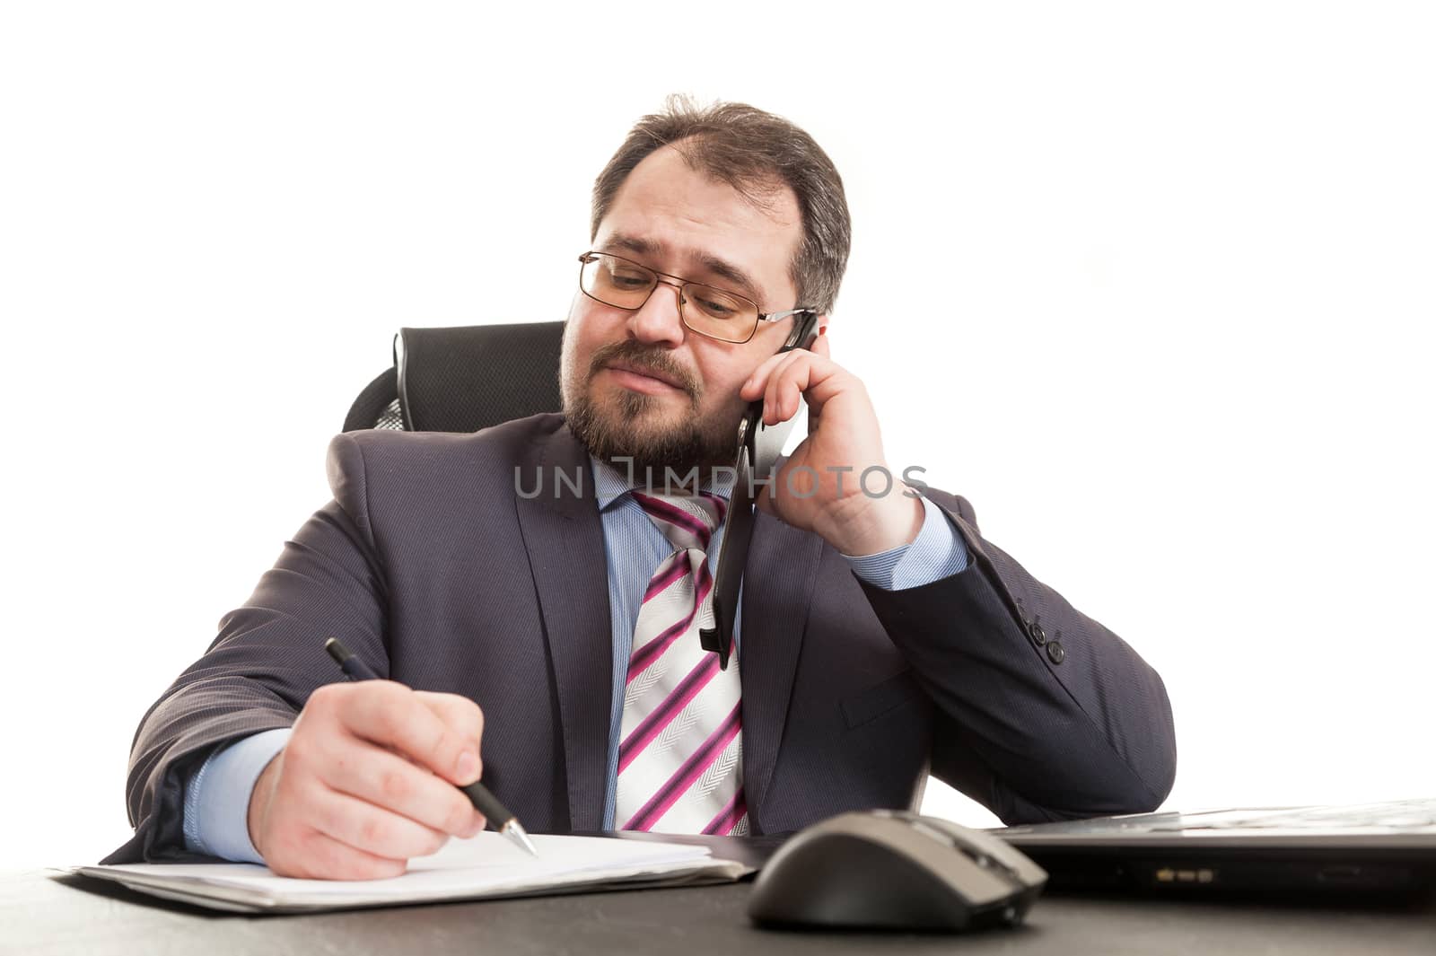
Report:
[[[559,472],[570,481],[582,475],[582,494],[556,488]],[[567,425],[530,445],[518,482],[530,494],[537,481],[543,484],[536,497],[516,494],[516,501],[553,662],[569,821],[573,830],[599,830],[613,699],[607,561],[593,469]]]

